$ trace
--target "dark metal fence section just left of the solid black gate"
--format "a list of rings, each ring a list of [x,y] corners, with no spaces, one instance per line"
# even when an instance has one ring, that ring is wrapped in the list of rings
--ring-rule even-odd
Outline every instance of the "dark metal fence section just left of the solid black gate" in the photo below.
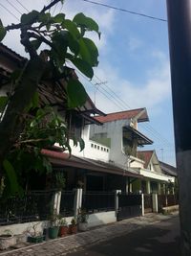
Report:
[[[86,192],[82,197],[82,208],[88,213],[115,210],[114,192]]]

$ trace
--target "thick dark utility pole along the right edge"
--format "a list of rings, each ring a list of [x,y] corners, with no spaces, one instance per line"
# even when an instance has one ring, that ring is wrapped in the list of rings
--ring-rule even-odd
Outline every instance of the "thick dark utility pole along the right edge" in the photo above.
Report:
[[[191,255],[191,0],[166,0],[178,175],[181,256]]]

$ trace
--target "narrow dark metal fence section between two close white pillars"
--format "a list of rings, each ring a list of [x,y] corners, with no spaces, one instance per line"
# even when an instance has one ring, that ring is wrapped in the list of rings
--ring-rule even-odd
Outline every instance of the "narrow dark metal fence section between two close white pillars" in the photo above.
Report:
[[[74,191],[62,191],[60,214],[65,217],[74,216]]]

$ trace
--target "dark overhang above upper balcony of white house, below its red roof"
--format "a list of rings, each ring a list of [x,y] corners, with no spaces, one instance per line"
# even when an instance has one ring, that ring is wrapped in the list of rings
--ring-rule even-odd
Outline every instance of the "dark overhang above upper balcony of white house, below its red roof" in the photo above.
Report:
[[[151,145],[153,144],[153,141],[147,138],[145,135],[143,135],[141,132],[138,131],[136,128],[132,127],[124,127],[124,130],[131,132],[131,138],[138,140],[138,146],[142,145]]]

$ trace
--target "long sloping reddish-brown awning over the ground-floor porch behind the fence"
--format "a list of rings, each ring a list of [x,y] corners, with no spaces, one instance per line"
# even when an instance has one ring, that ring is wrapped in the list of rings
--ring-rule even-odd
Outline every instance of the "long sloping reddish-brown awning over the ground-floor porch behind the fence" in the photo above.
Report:
[[[48,156],[50,161],[54,165],[70,166],[85,170],[91,170],[95,172],[142,178],[142,175],[139,175],[136,172],[132,173],[125,169],[118,168],[114,164],[105,163],[102,161],[93,160],[85,157],[76,157],[74,155],[71,155],[70,157],[69,153],[65,152],[50,150],[42,150],[41,152],[42,154]]]

